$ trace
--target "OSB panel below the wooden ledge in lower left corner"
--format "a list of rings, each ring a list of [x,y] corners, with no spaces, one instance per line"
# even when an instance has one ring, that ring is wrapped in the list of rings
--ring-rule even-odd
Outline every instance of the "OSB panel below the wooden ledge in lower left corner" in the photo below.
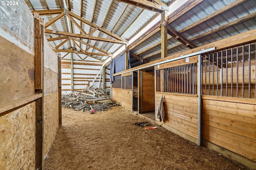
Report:
[[[0,115],[0,169],[35,169],[35,102]]]

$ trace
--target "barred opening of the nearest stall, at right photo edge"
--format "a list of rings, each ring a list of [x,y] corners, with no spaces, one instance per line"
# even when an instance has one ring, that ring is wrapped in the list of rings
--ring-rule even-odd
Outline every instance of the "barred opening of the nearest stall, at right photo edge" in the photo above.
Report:
[[[256,98],[256,43],[202,55],[202,94]]]

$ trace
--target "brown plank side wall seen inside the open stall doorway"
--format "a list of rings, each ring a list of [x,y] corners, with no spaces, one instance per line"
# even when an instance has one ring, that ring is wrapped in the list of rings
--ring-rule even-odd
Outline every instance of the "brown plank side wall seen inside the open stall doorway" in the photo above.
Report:
[[[155,80],[154,72],[142,71],[142,113],[155,110]],[[140,84],[139,84],[140,86]]]

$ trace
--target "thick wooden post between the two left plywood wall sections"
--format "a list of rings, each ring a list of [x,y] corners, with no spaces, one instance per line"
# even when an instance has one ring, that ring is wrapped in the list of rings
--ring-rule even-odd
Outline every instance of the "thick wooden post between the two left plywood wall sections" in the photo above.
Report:
[[[34,13],[35,24],[35,91],[44,94],[44,19]],[[44,169],[44,96],[36,100],[36,167]]]

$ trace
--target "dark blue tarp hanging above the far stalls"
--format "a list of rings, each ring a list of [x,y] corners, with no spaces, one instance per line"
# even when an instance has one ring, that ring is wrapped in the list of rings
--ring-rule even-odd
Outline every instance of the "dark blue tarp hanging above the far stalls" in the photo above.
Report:
[[[130,51],[128,51],[128,68],[130,64]],[[114,74],[125,70],[125,53],[113,59],[110,63],[110,83],[114,82]]]

